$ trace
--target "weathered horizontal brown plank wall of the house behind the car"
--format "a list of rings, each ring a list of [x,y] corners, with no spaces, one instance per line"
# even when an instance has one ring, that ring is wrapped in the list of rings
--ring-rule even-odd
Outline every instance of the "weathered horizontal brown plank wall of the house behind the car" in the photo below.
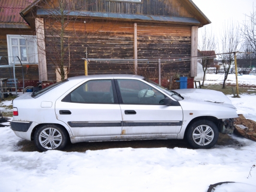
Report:
[[[49,44],[52,38],[47,28],[45,31],[48,79],[54,80],[56,73],[50,59],[52,53]],[[68,77],[85,74],[82,58],[86,58],[86,47],[89,59],[134,59],[133,23],[90,19],[84,24],[77,21],[65,30],[65,46],[68,41],[75,42],[65,54],[65,65],[70,65]],[[191,26],[138,23],[137,46],[138,59],[190,57]],[[120,64],[89,61],[88,74],[132,73],[133,65],[133,62]],[[163,67],[166,72],[177,71],[188,76],[190,61],[174,62]]]

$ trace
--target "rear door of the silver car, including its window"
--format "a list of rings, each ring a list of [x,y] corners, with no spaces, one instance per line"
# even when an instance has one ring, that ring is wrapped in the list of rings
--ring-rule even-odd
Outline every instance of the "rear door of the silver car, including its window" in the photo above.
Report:
[[[122,115],[113,85],[113,79],[90,80],[60,97],[55,104],[57,119],[75,137],[120,135]]]

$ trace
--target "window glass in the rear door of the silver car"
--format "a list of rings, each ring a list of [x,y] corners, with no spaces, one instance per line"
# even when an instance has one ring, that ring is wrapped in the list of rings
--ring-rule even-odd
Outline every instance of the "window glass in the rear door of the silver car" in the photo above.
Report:
[[[70,100],[82,103],[114,103],[111,80],[88,81],[71,92]]]

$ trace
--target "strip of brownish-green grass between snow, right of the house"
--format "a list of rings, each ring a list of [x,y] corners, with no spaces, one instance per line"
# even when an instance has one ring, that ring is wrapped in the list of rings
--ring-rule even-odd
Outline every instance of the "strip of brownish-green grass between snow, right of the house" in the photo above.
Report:
[[[232,87],[234,87],[235,93],[236,93],[236,86],[235,85],[226,85],[226,87],[223,89],[222,84],[212,84],[212,85],[205,85],[202,86],[202,89],[211,89],[215,91],[220,91],[224,93],[225,95],[233,95],[232,92]],[[249,87],[239,87],[239,94],[249,94],[249,95],[254,95],[256,94],[256,89],[250,89]],[[250,91],[248,91],[250,90]]]

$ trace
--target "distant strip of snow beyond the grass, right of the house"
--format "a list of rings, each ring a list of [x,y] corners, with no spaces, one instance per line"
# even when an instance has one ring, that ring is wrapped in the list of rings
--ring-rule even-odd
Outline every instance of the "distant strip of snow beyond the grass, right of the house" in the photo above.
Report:
[[[222,84],[224,80],[224,73],[206,74],[205,84]],[[242,75],[238,76],[239,84],[256,85],[256,75]],[[235,74],[229,74],[226,83],[236,84]]]

